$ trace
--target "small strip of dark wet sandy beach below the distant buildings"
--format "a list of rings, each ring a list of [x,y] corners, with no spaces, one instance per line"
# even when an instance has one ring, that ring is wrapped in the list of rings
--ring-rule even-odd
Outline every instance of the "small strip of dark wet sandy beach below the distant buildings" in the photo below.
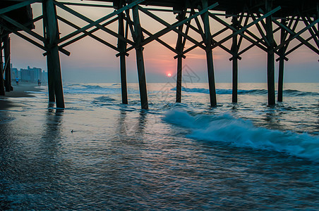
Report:
[[[23,82],[18,85],[12,83],[12,87],[13,91],[6,91],[6,96],[0,96],[0,110],[19,106],[19,104],[14,101],[14,98],[30,97],[32,94],[27,91],[39,91],[41,89],[37,87],[37,84],[28,82]]]

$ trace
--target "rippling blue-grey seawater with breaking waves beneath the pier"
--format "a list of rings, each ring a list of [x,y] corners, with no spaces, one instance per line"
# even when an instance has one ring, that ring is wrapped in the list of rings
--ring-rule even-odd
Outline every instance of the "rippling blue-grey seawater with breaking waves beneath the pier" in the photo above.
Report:
[[[67,84],[0,111],[0,210],[319,210],[319,84]]]

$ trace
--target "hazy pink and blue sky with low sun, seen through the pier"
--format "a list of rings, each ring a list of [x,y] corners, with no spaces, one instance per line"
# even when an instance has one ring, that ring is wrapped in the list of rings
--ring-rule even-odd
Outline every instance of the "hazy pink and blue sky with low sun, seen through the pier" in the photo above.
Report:
[[[40,4],[33,4],[32,8],[34,17],[41,15]],[[105,11],[110,12],[109,9],[105,8],[72,8],[83,15],[87,15],[92,20],[101,18],[105,14]],[[78,25],[85,25],[83,21],[59,9],[58,14],[64,18],[73,20],[73,22]],[[172,13],[156,14],[169,23],[176,21],[176,15]],[[150,32],[157,32],[164,28],[163,25],[154,23],[154,21],[143,14],[140,15],[140,19],[142,26]],[[229,22],[229,20],[227,20],[227,22]],[[222,29],[221,25],[214,24],[215,22],[211,24],[212,33]],[[59,27],[61,37],[73,31],[71,27],[66,27],[63,23],[59,24]],[[110,28],[116,31],[116,25],[110,25]],[[36,24],[35,32],[42,34],[41,21]],[[97,32],[96,35],[112,42],[112,44],[116,46],[116,39],[114,39],[114,37],[109,37],[102,32]],[[198,35],[192,34],[192,36],[200,41]],[[176,33],[170,32],[162,39],[174,47],[176,37]],[[217,37],[217,40],[222,38],[223,37]],[[278,38],[278,33],[275,34],[275,38]],[[298,41],[294,41],[293,44],[298,44]],[[230,45],[230,41],[225,44],[228,48]],[[187,46],[191,46],[191,44],[188,42],[186,43],[186,47]],[[241,49],[243,49],[244,46],[248,46],[248,42],[243,42]],[[71,52],[71,56],[65,56],[63,53],[60,53],[64,82],[120,82],[119,58],[115,56],[116,51],[100,44],[90,37],[85,37],[67,46],[66,50]],[[44,53],[44,51],[28,43],[28,41],[11,34],[11,63],[13,63],[14,68],[26,68],[30,65],[30,67],[47,70],[46,58],[42,53]],[[167,82],[168,80],[174,79],[177,62],[177,60],[174,59],[174,56],[176,56],[175,53],[157,41],[146,45],[143,53],[148,82]],[[213,55],[216,82],[231,82],[231,61],[229,61],[231,56],[220,48],[214,49]],[[239,82],[266,82],[267,54],[257,47],[254,47],[246,53],[243,53],[241,57],[242,60],[239,61]],[[291,53],[288,58],[289,61],[285,63],[284,82],[319,82],[319,63],[316,53],[303,46],[294,51],[294,53]],[[126,60],[128,82],[138,82],[136,54],[134,50],[129,52],[129,56]],[[276,80],[278,65],[278,63],[275,63]],[[194,82],[207,82],[207,66],[205,51],[203,51],[203,49],[197,48],[186,53],[183,66],[186,70],[184,74],[195,75]]]

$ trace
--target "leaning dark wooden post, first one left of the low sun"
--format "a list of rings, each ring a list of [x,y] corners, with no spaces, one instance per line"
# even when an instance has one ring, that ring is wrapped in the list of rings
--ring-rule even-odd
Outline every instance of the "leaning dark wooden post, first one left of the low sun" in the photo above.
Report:
[[[138,84],[140,86],[140,106],[142,109],[148,109],[148,91],[146,89],[145,67],[143,58],[143,34],[140,27],[140,16],[138,14],[138,6],[133,6],[133,24],[134,24],[134,40],[136,49],[136,63],[138,66]]]

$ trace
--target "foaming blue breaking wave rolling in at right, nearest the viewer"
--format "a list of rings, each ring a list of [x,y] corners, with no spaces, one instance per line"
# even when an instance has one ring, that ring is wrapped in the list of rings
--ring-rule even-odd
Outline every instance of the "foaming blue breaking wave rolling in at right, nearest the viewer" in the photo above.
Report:
[[[190,129],[188,136],[193,139],[223,141],[238,147],[278,151],[319,161],[319,136],[255,127],[251,121],[229,114],[190,115],[181,108],[170,110],[164,119]]]

